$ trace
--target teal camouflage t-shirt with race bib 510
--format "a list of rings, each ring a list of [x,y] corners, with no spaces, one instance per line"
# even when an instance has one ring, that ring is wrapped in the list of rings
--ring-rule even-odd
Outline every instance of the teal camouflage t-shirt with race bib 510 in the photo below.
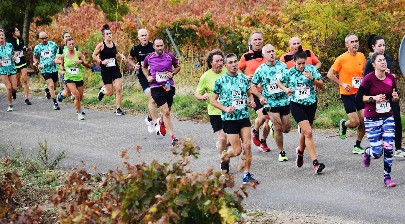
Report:
[[[267,99],[267,104],[264,107],[281,107],[289,104],[287,93],[277,86],[277,81],[288,69],[285,63],[275,62],[274,66],[269,66],[266,63],[261,64],[252,78],[254,85],[262,83],[262,96]]]

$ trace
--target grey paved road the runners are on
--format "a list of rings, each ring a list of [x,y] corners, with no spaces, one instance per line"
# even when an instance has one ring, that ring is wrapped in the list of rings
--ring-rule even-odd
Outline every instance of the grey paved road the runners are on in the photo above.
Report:
[[[23,94],[17,93],[13,103],[15,111],[6,112],[6,95],[0,93],[0,139],[10,138],[16,146],[36,146],[38,141],[48,139],[52,150],[68,150],[62,168],[84,161],[90,169],[97,165],[99,172],[117,166],[122,167],[120,152],[143,147],[141,153],[132,152],[131,159],[140,158],[149,163],[153,159],[168,161],[171,156],[170,137],[147,132],[144,116],[115,116],[113,112],[84,109],[85,120],[77,120],[75,108],[60,104],[61,110],[52,110],[52,103],[45,97],[31,97],[33,105],[23,105]],[[192,161],[192,169],[203,171],[207,166],[218,167],[219,158],[215,148],[216,135],[209,124],[175,121],[175,135],[194,136],[201,148],[200,158]],[[146,140],[139,140],[145,136]],[[341,140],[329,134],[315,133],[318,159],[326,165],[322,173],[315,175],[311,160],[305,154],[305,164],[295,166],[295,148],[298,134],[284,135],[287,162],[278,162],[278,153],[273,139],[268,140],[271,152],[260,152],[252,147],[251,171],[260,181],[256,190],[249,190],[243,201],[246,209],[272,209],[293,211],[322,216],[337,216],[342,220],[361,223],[403,223],[405,220],[405,158],[394,157],[392,178],[395,188],[383,185],[383,160],[372,159],[371,166],[362,165],[362,155],[352,154],[354,137]],[[366,146],[367,139],[363,140]],[[232,158],[231,168],[241,163],[240,157]],[[236,171],[234,175],[241,176]],[[236,178],[241,181],[241,178]],[[239,185],[237,185],[239,186]],[[344,222],[346,223],[346,222]]]

